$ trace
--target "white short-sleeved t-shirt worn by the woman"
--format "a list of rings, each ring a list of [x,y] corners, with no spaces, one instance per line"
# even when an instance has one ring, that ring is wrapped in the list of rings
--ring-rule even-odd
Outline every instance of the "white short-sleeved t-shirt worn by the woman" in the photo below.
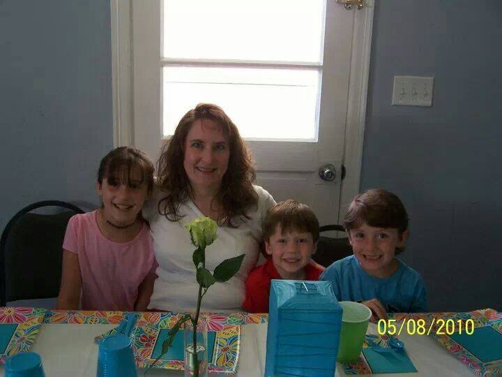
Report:
[[[245,279],[259,258],[261,242],[261,221],[267,210],[275,205],[272,195],[264,188],[254,186],[258,194],[257,209],[248,212],[250,219],[234,221],[237,228],[222,226],[218,228],[218,238],[206,248],[206,268],[213,272],[223,260],[245,253],[239,272],[225,283],[215,283],[204,295],[201,311],[229,312],[241,311],[245,297]],[[197,206],[188,200],[179,209],[185,215],[180,221],[169,221],[156,211],[148,216],[153,237],[153,249],[158,262],[153,294],[149,308],[174,312],[195,311],[199,284],[196,279],[192,254],[195,246],[190,242],[190,235],[185,230],[190,221],[204,216]],[[148,212],[148,211],[146,211]]]

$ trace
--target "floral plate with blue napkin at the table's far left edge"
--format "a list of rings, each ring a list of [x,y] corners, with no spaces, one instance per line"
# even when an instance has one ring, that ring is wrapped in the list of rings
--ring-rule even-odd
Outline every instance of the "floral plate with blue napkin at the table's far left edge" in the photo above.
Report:
[[[45,309],[40,308],[0,308],[0,364],[31,350],[44,316]]]

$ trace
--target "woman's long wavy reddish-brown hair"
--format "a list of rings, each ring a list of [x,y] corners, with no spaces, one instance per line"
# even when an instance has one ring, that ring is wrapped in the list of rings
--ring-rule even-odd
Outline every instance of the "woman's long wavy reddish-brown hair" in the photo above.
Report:
[[[236,216],[249,219],[248,210],[258,203],[258,195],[252,186],[256,171],[251,154],[244,140],[238,133],[237,126],[217,105],[199,103],[179,121],[174,135],[166,140],[158,161],[158,183],[166,195],[158,203],[158,212],[169,221],[178,221],[180,205],[191,195],[191,186],[183,166],[185,140],[190,128],[198,119],[215,121],[222,127],[229,138],[229,163],[222,178],[220,191],[213,200],[222,207],[222,216],[218,223],[234,226],[231,220]]]

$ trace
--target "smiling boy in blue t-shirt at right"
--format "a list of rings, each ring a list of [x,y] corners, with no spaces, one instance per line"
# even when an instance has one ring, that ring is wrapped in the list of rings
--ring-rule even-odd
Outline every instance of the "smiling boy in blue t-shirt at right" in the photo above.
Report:
[[[352,200],[343,226],[353,255],[337,260],[320,277],[333,282],[337,299],[362,302],[372,320],[388,312],[427,311],[422,276],[395,258],[409,237],[401,200],[383,189],[365,191]]]

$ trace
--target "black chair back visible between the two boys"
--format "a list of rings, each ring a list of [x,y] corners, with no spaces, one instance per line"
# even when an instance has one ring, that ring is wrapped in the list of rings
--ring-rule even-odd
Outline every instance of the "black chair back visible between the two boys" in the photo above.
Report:
[[[321,226],[319,233],[337,230],[345,232],[340,225]],[[348,237],[333,238],[319,235],[317,242],[317,251],[312,255],[312,259],[324,267],[329,267],[336,260],[343,259],[352,255],[352,246],[349,243]]]

